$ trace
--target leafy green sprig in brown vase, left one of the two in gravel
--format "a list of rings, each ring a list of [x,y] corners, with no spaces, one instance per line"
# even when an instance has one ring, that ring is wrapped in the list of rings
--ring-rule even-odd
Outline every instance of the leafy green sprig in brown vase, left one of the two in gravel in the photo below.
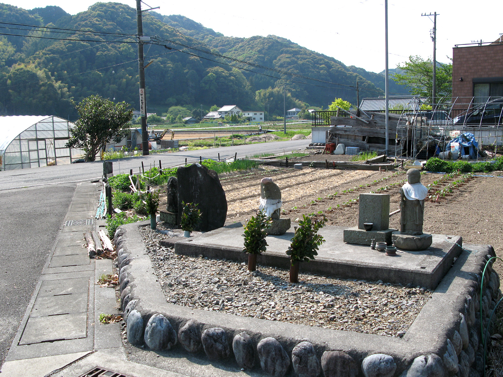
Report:
[[[256,217],[251,217],[244,226],[244,247],[243,252],[248,254],[248,271],[257,269],[257,255],[266,251],[268,246],[267,228],[273,221],[267,217],[264,211],[259,211]]]

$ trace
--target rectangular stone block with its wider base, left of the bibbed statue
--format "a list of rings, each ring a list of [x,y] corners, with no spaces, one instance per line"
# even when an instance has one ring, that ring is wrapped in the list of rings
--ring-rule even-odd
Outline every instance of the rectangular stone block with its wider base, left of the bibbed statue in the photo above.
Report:
[[[389,194],[360,194],[358,206],[358,227],[344,230],[344,242],[370,245],[375,239],[391,244],[391,233],[396,229],[389,228]]]

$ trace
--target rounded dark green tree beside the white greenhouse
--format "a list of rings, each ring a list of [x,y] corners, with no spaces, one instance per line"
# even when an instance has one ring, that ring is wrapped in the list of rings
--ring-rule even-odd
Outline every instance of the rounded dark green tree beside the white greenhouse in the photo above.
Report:
[[[80,101],[76,109],[80,118],[70,128],[71,137],[65,146],[85,151],[85,161],[94,161],[100,149],[111,140],[120,142],[133,119],[129,104],[116,104],[96,95]]]

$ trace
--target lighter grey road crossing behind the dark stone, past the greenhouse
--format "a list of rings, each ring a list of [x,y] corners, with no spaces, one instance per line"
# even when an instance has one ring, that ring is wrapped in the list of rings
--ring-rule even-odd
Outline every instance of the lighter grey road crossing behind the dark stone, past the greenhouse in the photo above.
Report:
[[[154,161],[157,166],[159,160],[161,160],[162,167],[169,167],[185,163],[186,158],[188,162],[199,161],[199,156],[203,159],[216,159],[218,153],[220,153],[220,158],[223,159],[233,157],[235,153],[237,153],[237,157],[240,158],[251,156],[256,153],[289,152],[307,146],[309,141],[310,140],[277,141],[176,153],[153,154],[145,157],[121,158],[120,160],[113,160],[114,173],[128,172],[131,168],[134,169],[134,171],[138,171],[142,161],[145,167],[150,167],[150,164],[153,165]],[[7,170],[0,172],[0,191],[36,185],[57,184],[61,182],[84,181],[101,177],[102,174],[102,161],[22,170]]]

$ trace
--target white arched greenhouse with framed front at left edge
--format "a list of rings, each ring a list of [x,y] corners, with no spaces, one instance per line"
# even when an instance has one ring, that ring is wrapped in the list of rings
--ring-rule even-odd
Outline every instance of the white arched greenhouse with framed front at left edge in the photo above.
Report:
[[[73,123],[55,116],[0,117],[0,170],[69,164],[83,151],[65,147]]]

